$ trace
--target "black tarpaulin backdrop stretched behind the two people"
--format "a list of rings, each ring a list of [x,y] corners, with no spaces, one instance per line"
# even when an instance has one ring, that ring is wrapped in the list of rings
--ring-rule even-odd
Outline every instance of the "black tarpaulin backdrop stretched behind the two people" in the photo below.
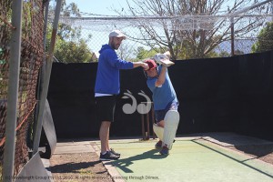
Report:
[[[58,138],[97,137],[96,63],[59,64],[52,69],[48,101]],[[273,52],[176,61],[168,68],[180,102],[179,134],[236,132],[273,140]],[[122,107],[128,91],[137,104],[151,98],[142,68],[120,71],[121,92],[111,136],[141,136],[141,116]]]

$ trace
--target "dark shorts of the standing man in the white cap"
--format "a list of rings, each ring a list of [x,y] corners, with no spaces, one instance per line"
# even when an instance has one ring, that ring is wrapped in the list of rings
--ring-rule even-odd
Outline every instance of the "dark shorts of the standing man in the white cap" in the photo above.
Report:
[[[114,122],[116,96],[96,96],[96,118],[99,122]]]

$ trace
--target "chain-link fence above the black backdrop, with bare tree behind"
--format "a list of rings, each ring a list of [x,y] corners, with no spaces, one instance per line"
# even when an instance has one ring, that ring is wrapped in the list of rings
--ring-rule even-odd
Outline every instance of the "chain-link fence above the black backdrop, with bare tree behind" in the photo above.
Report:
[[[260,31],[272,19],[271,14],[191,15],[176,19],[150,16],[61,17],[61,24],[80,30],[92,56],[80,60],[56,54],[56,58],[65,63],[96,61],[101,45],[108,44],[108,34],[113,29],[120,29],[127,36],[117,51],[126,60],[139,60],[170,49],[176,60],[249,54],[255,52],[253,46],[258,44]],[[273,45],[271,35],[267,38],[269,45]],[[66,40],[79,42],[73,37]]]

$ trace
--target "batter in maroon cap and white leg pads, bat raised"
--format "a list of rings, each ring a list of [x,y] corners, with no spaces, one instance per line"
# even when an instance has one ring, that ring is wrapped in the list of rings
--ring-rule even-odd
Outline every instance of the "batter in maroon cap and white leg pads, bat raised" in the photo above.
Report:
[[[179,122],[177,94],[167,74],[167,66],[157,66],[152,59],[146,60],[145,63],[149,66],[145,70],[145,74],[147,76],[147,86],[153,93],[157,121],[157,124],[153,126],[159,138],[156,147],[162,147],[160,150],[161,155],[168,155]],[[168,142],[168,140],[171,142]]]

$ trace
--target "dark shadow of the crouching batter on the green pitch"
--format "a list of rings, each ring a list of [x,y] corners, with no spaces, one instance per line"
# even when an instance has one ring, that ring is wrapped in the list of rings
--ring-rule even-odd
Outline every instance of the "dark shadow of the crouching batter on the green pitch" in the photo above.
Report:
[[[147,159],[147,158],[161,159],[161,158],[166,158],[166,157],[167,157],[166,155],[160,155],[158,153],[158,149],[152,149],[152,150],[149,150],[149,151],[144,152],[142,154],[136,155],[134,157],[122,158],[122,159],[118,159],[116,161],[107,162],[106,164],[111,164],[115,167],[118,167],[126,173],[133,173],[133,171],[131,169],[129,169],[128,167],[130,165],[132,165],[134,163],[134,161],[136,161],[136,160],[143,160],[143,159]]]

